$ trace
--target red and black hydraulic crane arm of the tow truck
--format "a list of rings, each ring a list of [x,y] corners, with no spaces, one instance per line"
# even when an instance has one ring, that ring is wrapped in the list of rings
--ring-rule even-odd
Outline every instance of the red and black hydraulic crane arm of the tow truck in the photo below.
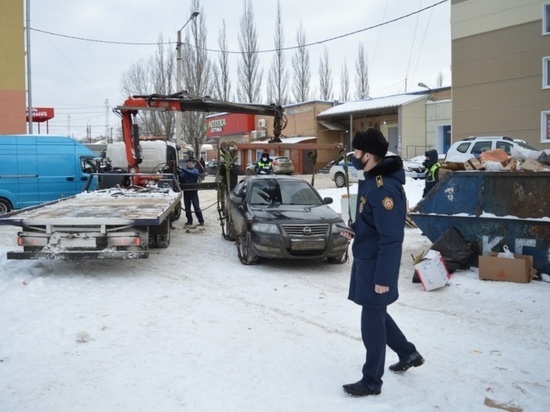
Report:
[[[211,97],[191,96],[186,92],[172,95],[137,95],[126,99],[115,112],[122,118],[122,136],[126,146],[128,171],[139,172],[141,154],[139,151],[139,131],[134,121],[139,110],[161,110],[172,112],[228,112],[273,116],[274,141],[280,142],[280,135],[286,126],[284,109],[275,104],[233,103]]]

